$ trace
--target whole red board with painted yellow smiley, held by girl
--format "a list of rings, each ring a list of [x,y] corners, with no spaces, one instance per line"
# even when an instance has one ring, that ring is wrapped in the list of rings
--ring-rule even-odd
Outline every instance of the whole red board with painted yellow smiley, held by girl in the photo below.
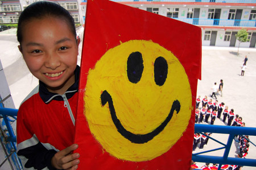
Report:
[[[80,75],[80,169],[189,169],[201,28],[89,0]]]

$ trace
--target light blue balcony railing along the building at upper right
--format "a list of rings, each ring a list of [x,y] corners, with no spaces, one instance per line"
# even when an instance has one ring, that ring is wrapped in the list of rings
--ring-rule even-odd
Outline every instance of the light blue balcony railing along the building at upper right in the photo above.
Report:
[[[225,26],[225,27],[256,27],[256,20],[238,19],[200,19],[200,18],[174,18],[185,23],[199,26]]]

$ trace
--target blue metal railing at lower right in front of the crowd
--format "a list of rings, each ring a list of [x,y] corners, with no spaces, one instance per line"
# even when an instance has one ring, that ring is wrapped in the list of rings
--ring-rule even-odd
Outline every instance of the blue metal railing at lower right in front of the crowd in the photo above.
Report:
[[[228,142],[226,144],[213,139],[214,141],[222,144],[224,147],[216,148],[214,150],[199,152],[196,154],[192,154],[192,160],[203,162],[203,163],[217,163],[219,164],[218,169],[221,168],[222,164],[229,164],[229,165],[245,165],[250,167],[256,167],[256,159],[241,159],[238,157],[228,157],[230,147],[236,135],[250,135],[256,136],[256,128],[255,127],[236,127],[236,126],[218,126],[218,125],[195,125],[195,132],[210,132],[210,133],[217,133],[217,134],[229,134]],[[250,141],[254,146],[255,144]],[[225,149],[223,156],[209,156],[209,155],[201,155],[207,152],[212,152],[216,150]]]

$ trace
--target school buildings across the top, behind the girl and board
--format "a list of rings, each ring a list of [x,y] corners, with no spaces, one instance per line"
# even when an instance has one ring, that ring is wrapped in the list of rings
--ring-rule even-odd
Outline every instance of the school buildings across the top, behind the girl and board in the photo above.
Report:
[[[20,12],[35,1],[37,0],[0,0],[0,24],[18,23]],[[248,38],[240,47],[256,46],[256,0],[113,1],[199,26],[202,30],[202,45],[238,47],[236,34],[244,28]],[[53,2],[67,9],[76,23],[84,24],[86,0]]]

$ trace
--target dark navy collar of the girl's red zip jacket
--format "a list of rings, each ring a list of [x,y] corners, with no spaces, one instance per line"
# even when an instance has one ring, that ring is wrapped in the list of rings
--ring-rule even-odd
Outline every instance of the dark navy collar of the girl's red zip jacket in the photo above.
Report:
[[[74,73],[75,73],[75,83],[68,88],[67,92],[64,93],[68,99],[71,98],[79,88],[80,67],[78,65]],[[63,95],[49,92],[48,89],[46,88],[46,84],[44,84],[40,80],[39,80],[39,96],[42,98],[42,100],[45,103],[49,103],[50,101],[52,101],[52,99],[56,101],[63,101]]]

